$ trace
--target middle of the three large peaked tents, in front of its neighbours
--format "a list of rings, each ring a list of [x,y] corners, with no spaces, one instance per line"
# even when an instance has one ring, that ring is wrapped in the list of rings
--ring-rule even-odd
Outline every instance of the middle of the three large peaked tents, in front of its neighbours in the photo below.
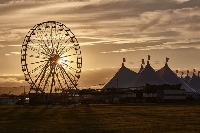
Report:
[[[144,87],[146,84],[151,85],[162,85],[166,82],[159,77],[155,70],[150,66],[149,61],[144,70],[139,73],[139,75],[132,80],[129,84],[126,84],[125,87]]]

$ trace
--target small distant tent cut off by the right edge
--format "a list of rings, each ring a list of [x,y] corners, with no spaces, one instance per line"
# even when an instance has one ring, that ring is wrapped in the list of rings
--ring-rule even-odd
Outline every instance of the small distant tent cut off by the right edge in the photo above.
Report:
[[[188,83],[190,87],[192,87],[196,92],[200,93],[200,77],[193,73],[193,76]]]

